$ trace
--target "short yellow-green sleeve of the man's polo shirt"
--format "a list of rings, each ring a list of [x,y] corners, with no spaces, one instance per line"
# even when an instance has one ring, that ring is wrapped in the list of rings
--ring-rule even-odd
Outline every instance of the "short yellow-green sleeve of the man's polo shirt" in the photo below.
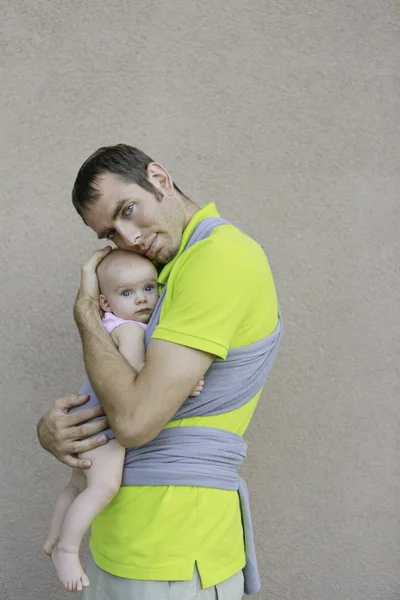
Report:
[[[257,291],[254,260],[236,240],[210,237],[187,250],[174,268],[179,270],[168,284],[171,305],[152,337],[225,359]]]

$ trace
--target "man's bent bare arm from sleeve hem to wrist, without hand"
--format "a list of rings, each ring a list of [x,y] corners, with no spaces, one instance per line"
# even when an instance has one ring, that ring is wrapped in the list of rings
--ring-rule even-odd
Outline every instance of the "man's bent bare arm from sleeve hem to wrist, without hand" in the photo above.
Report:
[[[118,442],[142,446],[171,420],[214,356],[153,339],[137,374],[122,358],[93,308],[77,318],[86,372]],[[83,314],[82,314],[83,317]]]

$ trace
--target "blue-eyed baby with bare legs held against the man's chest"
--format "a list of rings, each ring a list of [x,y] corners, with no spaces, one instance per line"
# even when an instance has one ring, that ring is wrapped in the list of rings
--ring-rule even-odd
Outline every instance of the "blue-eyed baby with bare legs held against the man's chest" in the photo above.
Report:
[[[104,327],[122,356],[139,372],[145,360],[144,332],[158,300],[156,268],[143,256],[113,250],[99,264],[97,277]],[[201,380],[191,395],[198,396],[203,384]],[[111,439],[80,457],[89,459],[92,466],[84,471],[72,469],[44,544],[44,552],[51,556],[61,582],[70,592],[89,585],[79,560],[80,544],[93,519],[120,488],[125,448]]]

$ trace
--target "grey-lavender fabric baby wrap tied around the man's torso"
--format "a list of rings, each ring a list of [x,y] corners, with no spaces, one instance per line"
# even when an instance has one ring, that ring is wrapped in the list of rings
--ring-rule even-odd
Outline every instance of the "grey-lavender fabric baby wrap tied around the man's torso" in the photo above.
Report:
[[[228,224],[227,221],[218,217],[208,217],[201,221],[185,251],[207,238],[215,227],[224,224]],[[158,325],[166,289],[167,285],[147,327],[146,347]],[[248,346],[230,349],[225,360],[214,360],[205,375],[201,394],[189,397],[171,420],[218,415],[249,402],[263,387],[269,375],[281,333],[282,320],[279,314],[278,325],[270,336]],[[93,390],[81,390],[81,393],[94,396]],[[114,436],[111,434],[109,437]],[[246,550],[244,591],[250,595],[259,591],[260,578],[249,495],[244,480],[237,472],[246,457],[246,449],[247,444],[241,436],[223,429],[201,426],[163,429],[148,444],[127,449],[122,485],[186,485],[237,490]]]

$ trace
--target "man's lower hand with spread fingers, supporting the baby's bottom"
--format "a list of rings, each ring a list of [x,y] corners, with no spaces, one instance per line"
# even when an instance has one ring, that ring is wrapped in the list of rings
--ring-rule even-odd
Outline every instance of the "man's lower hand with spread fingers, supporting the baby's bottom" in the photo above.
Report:
[[[108,427],[106,419],[93,423],[85,422],[103,416],[104,411],[101,406],[68,413],[70,408],[84,404],[87,400],[88,396],[76,396],[76,394],[59,398],[40,419],[37,426],[38,438],[43,448],[69,467],[89,468],[90,461],[79,459],[75,455],[102,446],[108,441],[105,435],[86,439]]]

